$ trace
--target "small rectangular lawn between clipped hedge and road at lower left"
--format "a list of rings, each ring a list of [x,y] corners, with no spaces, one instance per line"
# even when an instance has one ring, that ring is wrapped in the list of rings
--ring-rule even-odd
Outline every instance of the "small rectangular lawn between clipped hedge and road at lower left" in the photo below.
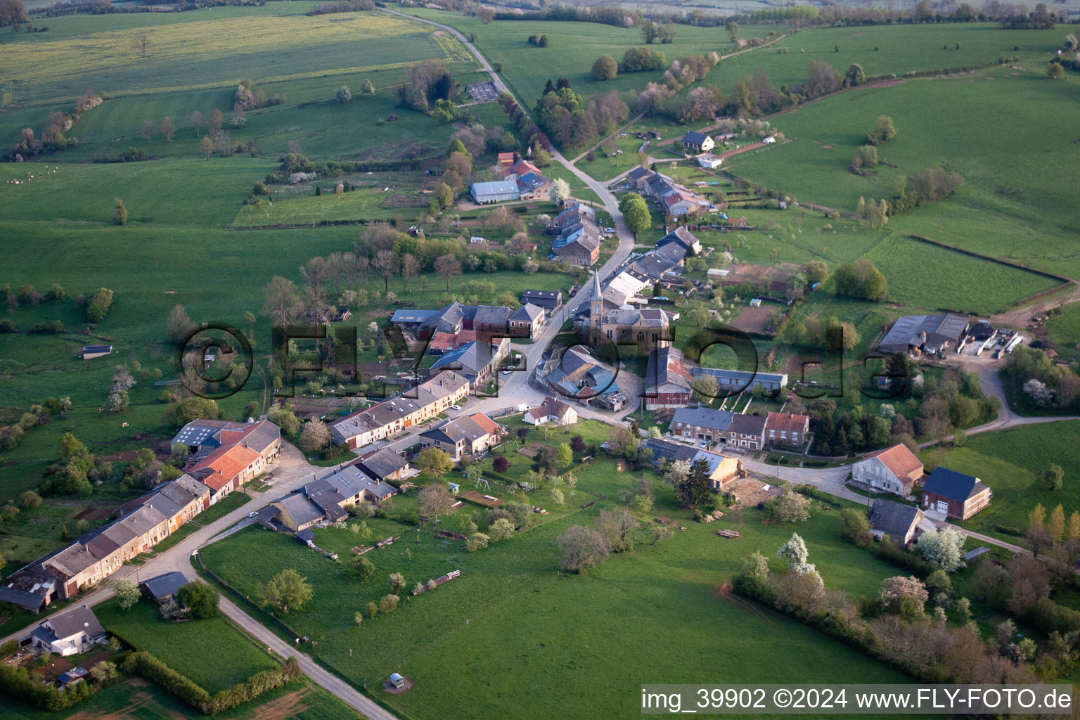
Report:
[[[130,610],[121,610],[116,599],[95,606],[94,614],[106,630],[151,653],[211,694],[276,665],[266,650],[222,615],[168,623],[152,602],[140,600]],[[214,662],[207,662],[212,648]]]

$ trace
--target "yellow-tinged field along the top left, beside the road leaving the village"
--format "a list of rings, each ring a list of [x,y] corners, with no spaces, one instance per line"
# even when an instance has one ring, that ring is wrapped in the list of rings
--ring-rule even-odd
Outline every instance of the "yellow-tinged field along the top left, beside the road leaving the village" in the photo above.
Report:
[[[299,80],[328,70],[350,74],[427,57],[450,59],[432,31],[418,23],[376,12],[300,14],[314,4],[272,3],[254,13],[139,13],[125,16],[119,27],[104,16],[104,24],[89,23],[95,18],[84,15],[50,18],[50,32],[11,36],[26,40],[0,43],[0,67],[10,68],[3,80],[25,83],[24,103],[55,103],[73,99],[86,87],[118,97],[235,85],[245,78]],[[158,23],[157,17],[173,19]],[[73,27],[65,31],[65,26]],[[134,46],[138,35],[149,41],[145,58]],[[26,62],[28,53],[32,63]]]

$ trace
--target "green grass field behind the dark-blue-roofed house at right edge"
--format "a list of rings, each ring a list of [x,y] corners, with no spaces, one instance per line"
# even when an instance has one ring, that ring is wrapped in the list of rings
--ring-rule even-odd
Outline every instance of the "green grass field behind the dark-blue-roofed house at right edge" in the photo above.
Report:
[[[922,453],[926,458],[933,450]],[[1042,474],[1057,463],[1065,468],[1065,486],[1054,492]],[[943,451],[942,465],[982,479],[994,491],[990,506],[961,524],[977,532],[1016,542],[1027,529],[1028,513],[1037,504],[1050,512],[1061,504],[1068,517],[1080,511],[1080,422],[1059,421],[972,435],[962,448]]]

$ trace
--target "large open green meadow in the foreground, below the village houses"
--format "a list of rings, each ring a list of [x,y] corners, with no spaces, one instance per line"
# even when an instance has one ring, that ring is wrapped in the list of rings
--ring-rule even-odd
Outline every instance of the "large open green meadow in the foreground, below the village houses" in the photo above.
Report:
[[[593,434],[589,427],[581,430]],[[555,430],[548,441],[565,437]],[[541,438],[534,431],[529,441]],[[513,457],[512,472],[524,473],[528,461]],[[762,615],[717,594],[719,583],[746,553],[760,549],[773,557],[793,529],[807,540],[827,586],[853,596],[876,593],[895,570],[841,541],[835,531],[836,511],[819,511],[811,521],[792,528],[764,525],[760,514],[751,510],[740,526],[743,538],[721,540],[712,533],[716,526],[686,519],[671,490],[652,479],[659,498],[654,512],[678,518],[687,531],[658,546],[643,542],[636,552],[615,556],[589,575],[566,575],[557,572],[556,538],[569,525],[591,521],[597,511],[577,508],[582,493],[604,493],[609,500],[599,506],[610,506],[610,499],[639,476],[616,472],[610,460],[577,474],[578,495],[564,508],[568,516],[556,514],[475,554],[456,544],[443,546],[427,530],[417,535],[405,526],[373,520],[376,538],[403,536],[368,553],[378,569],[372,586],[288,536],[262,529],[237,533],[204,548],[202,557],[245,594],[280,569],[297,568],[314,587],[314,598],[286,621],[318,639],[316,655],[354,684],[370,688],[393,671],[411,678],[416,685],[407,694],[381,695],[410,717],[546,717],[539,708],[556,702],[568,718],[631,712],[637,703],[635,688],[644,681],[740,682],[768,675],[777,681],[825,682],[848,678],[855,667],[874,681],[904,681],[793,621]],[[539,493],[540,504],[544,494]],[[447,522],[454,527],[456,520]],[[348,530],[316,530],[315,535],[316,543],[342,558],[356,544]],[[353,612],[388,592],[388,572],[402,572],[411,587],[454,568],[463,571],[459,580],[416,598],[405,596],[392,614],[354,625]],[[672,613],[676,607],[680,611]],[[705,629],[711,627],[716,631]],[[717,676],[717,656],[739,662],[725,663]],[[812,668],[800,660],[806,656],[815,658]],[[461,671],[446,673],[448,657],[456,658]],[[636,660],[625,663],[624,657]],[[583,674],[589,682],[580,680]]]

